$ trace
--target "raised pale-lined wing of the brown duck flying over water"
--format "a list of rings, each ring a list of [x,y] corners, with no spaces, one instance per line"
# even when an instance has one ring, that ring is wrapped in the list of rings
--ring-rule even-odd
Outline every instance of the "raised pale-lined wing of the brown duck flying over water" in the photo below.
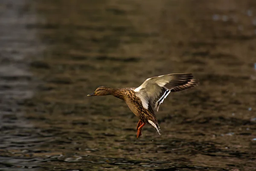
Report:
[[[170,92],[190,89],[197,86],[197,84],[198,82],[193,79],[192,74],[167,74],[148,78],[134,91],[145,109],[148,109],[150,104],[158,111],[159,105],[163,103]]]

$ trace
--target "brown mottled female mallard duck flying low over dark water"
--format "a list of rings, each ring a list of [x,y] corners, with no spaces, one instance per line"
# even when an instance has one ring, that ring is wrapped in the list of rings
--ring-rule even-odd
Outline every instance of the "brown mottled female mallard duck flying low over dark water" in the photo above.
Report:
[[[137,124],[137,138],[142,135],[142,128],[149,123],[161,135],[160,127],[154,110],[170,92],[183,91],[194,88],[198,81],[192,74],[167,74],[148,78],[137,88],[111,88],[101,86],[87,96],[113,95],[126,102],[131,111],[140,119]]]

